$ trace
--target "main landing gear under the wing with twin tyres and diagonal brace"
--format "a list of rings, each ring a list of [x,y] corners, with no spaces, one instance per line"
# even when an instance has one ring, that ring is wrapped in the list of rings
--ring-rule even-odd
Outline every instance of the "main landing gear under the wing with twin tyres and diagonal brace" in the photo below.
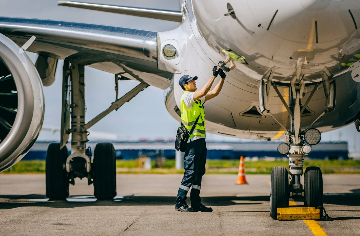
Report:
[[[46,196],[50,200],[66,200],[69,184],[75,185],[76,177],[87,178],[89,185],[94,183],[94,195],[98,200],[111,200],[116,196],[114,146],[111,143],[99,143],[92,154],[90,147],[86,148],[86,142],[89,141],[87,130],[149,86],[142,82],[118,99],[118,81],[125,77],[116,74],[116,100],[104,112],[85,123],[84,70],[85,65],[81,62],[64,60],[60,143],[50,144],[46,152]],[[69,155],[65,145],[70,134]]]

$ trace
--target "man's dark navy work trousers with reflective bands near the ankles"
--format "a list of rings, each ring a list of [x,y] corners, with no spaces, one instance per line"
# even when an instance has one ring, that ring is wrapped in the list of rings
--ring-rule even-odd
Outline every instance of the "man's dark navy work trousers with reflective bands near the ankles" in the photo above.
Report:
[[[184,156],[185,172],[177,192],[175,207],[181,207],[186,204],[186,194],[190,187],[191,206],[198,207],[201,205],[200,188],[202,176],[205,174],[206,150],[205,138],[190,141],[186,145]]]

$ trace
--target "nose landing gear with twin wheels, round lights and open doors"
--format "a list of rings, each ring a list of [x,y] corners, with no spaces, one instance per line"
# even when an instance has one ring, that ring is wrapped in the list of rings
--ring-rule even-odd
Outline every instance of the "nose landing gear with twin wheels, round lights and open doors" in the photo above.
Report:
[[[305,155],[310,154],[311,146],[318,144],[321,139],[320,132],[311,127],[321,116],[334,109],[336,92],[335,80],[328,69],[325,68],[322,73],[322,80],[320,82],[314,82],[309,78],[304,77],[301,73],[301,66],[301,62],[298,63],[296,73],[279,81],[272,80],[272,75],[276,69],[276,67],[272,67],[264,74],[260,84],[261,112],[269,113],[270,116],[276,120],[270,110],[266,108],[266,106],[270,107],[270,105],[267,105],[267,96],[269,95],[270,87],[272,86],[290,114],[290,130],[287,130],[283,124],[276,120],[276,122],[286,131],[284,134],[284,142],[278,146],[278,152],[289,157],[290,177],[288,176],[287,169],[284,167],[274,167],[271,171],[270,216],[273,219],[277,218],[277,208],[289,206],[289,198],[303,200],[306,207],[318,208],[323,206],[323,176],[320,168],[306,168],[304,185],[301,184],[300,177],[304,174],[303,161]],[[291,83],[282,82],[291,77]],[[307,83],[304,82],[304,78],[308,81]],[[323,85],[325,93],[325,110],[314,122],[312,122],[312,124],[310,124],[309,127],[303,130],[301,126],[301,117],[320,84]],[[289,87],[289,105],[279,92],[278,86]],[[305,95],[303,94],[305,87],[307,90],[312,88],[312,92],[305,104],[302,105],[301,98]]]

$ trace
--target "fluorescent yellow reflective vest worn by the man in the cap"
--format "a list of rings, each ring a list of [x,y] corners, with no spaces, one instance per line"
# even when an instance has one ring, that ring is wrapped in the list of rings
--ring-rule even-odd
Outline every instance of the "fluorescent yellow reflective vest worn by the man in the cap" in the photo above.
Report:
[[[195,130],[190,135],[189,139],[192,139],[195,135],[205,137],[205,113],[204,113],[204,106],[200,99],[196,100],[193,103],[193,106],[188,109],[184,102],[184,95],[189,91],[184,91],[184,94],[181,96],[180,99],[180,112],[181,112],[181,121],[183,122],[186,129],[189,131],[193,127],[196,118],[201,114],[198,123],[195,126]]]

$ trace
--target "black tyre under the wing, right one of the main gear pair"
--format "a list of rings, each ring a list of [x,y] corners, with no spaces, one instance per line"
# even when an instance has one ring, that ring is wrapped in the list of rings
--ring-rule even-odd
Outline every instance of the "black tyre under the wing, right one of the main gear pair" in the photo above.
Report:
[[[92,165],[94,195],[98,200],[112,200],[116,196],[115,149],[112,143],[96,144]]]

